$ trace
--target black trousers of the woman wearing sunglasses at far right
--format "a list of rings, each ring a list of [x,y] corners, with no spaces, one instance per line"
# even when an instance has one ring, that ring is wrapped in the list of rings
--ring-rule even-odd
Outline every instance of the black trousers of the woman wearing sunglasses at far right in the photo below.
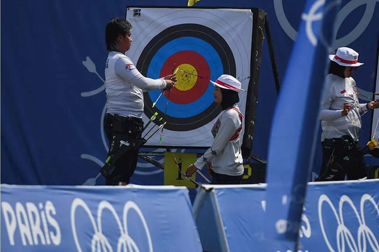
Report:
[[[362,179],[366,176],[365,160],[359,142],[351,140],[350,146],[342,138],[322,142],[323,162],[316,181]],[[333,153],[334,158],[331,157]]]

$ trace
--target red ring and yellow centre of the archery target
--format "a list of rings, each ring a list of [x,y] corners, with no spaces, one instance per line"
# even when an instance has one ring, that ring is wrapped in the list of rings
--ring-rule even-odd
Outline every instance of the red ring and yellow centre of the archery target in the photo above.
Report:
[[[198,100],[204,95],[210,81],[210,68],[207,61],[195,51],[179,51],[164,62],[160,76],[172,74],[174,64],[175,68],[179,68],[176,73],[177,82],[170,96],[168,97],[168,91],[164,95],[177,104],[188,104]]]

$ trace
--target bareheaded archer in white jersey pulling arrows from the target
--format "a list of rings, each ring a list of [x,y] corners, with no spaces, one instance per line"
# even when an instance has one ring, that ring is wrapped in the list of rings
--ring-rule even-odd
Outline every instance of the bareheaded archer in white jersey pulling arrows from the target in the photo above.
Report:
[[[125,19],[111,19],[105,28],[106,49],[109,51],[105,62],[106,115],[104,130],[112,156],[120,146],[120,140],[140,138],[143,129],[143,92],[149,90],[171,90],[176,81],[174,74],[161,79],[143,76],[133,62],[125,56],[132,45],[132,24]],[[106,176],[106,185],[127,185],[133,175],[139,149],[128,151],[115,163],[113,172]],[[105,175],[104,175],[105,176]]]

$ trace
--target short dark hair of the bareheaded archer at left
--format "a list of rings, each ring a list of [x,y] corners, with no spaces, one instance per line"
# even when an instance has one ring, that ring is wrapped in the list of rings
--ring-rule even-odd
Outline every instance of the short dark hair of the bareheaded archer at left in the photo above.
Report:
[[[113,51],[118,48],[117,37],[125,37],[132,30],[132,23],[126,19],[113,18],[105,26],[106,50]]]

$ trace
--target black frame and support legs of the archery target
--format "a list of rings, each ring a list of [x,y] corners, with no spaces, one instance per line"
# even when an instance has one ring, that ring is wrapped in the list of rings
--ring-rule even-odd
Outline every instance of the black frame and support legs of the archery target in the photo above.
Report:
[[[276,91],[279,94],[280,90],[280,80],[279,73],[276,65],[273,42],[271,39],[271,30],[269,28],[268,14],[259,8],[244,8],[244,7],[215,7],[215,6],[127,6],[125,9],[125,19],[127,17],[127,10],[130,8],[181,8],[181,9],[250,9],[253,12],[253,30],[252,30],[252,48],[251,48],[251,69],[250,69],[250,81],[247,89],[246,99],[251,101],[251,106],[246,106],[245,112],[245,132],[243,136],[243,143],[241,146],[242,155],[247,162],[250,163],[251,160],[255,160],[260,163],[267,163],[266,160],[252,154],[252,146],[254,140],[254,124],[251,123],[255,121],[255,115],[257,111],[257,101],[258,101],[258,85],[260,76],[260,66],[262,61],[262,47],[263,40],[265,39],[264,31],[266,32],[268,50],[270,54],[271,67],[273,68],[273,76],[276,86]],[[143,146],[145,148],[166,148],[168,152],[171,152],[171,148],[180,149],[207,149],[207,147],[187,147],[187,146]],[[208,147],[209,148],[209,147]],[[204,152],[202,153],[204,154]],[[197,156],[202,154],[198,153]],[[163,169],[163,165],[158,161],[152,159],[150,156],[164,156],[164,152],[140,152],[139,157],[142,159],[156,165],[157,167]]]

